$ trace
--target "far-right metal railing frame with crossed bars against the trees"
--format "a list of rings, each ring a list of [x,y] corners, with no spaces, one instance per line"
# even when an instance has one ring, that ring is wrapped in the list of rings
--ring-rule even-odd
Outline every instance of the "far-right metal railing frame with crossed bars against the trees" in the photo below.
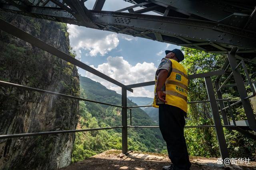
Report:
[[[227,101],[223,101],[220,102],[220,110],[222,113],[222,117],[223,117],[223,121],[224,121],[224,125],[229,125],[230,121],[228,121],[227,115],[226,115],[226,109],[229,109],[230,111],[230,116],[232,118],[233,124],[236,125],[236,120],[234,118],[234,114],[232,111],[232,106],[235,106],[237,104],[242,104],[243,108],[244,108],[244,112],[246,114],[246,118],[248,121],[248,125],[250,127],[250,129],[256,131],[256,119],[254,117],[254,113],[252,110],[252,106],[250,104],[250,98],[256,96],[256,92],[255,92],[255,81],[252,81],[248,72],[248,69],[246,67],[245,61],[241,60],[239,63],[237,63],[236,61],[236,52],[238,51],[237,47],[233,47],[232,50],[230,51],[230,53],[227,55],[227,59],[224,63],[224,65],[222,66],[222,70],[226,71],[228,70],[228,68],[231,68],[231,73],[229,74],[229,76],[224,80],[224,82],[221,84],[220,86],[220,78],[224,75],[219,75],[214,84],[216,87],[216,94],[217,94],[217,98],[218,99],[222,99],[222,92],[221,89],[222,88],[228,88],[228,87],[234,87],[236,86],[237,90],[238,90],[238,94],[240,97],[240,100],[227,100]],[[242,65],[242,68],[244,70],[244,73],[246,75],[246,79],[247,82],[245,82],[245,80],[243,80],[242,75],[240,73],[240,66]],[[226,82],[228,82],[228,80],[233,76],[235,84],[226,84]],[[245,85],[249,84],[252,94],[248,96],[247,94],[247,90],[245,88]],[[228,106],[225,106],[224,102],[227,102]],[[234,102],[231,104],[231,102]]]

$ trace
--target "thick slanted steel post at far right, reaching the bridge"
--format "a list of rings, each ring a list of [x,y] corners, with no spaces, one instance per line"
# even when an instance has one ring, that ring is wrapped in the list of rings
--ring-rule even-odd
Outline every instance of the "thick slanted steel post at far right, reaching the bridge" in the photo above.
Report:
[[[237,90],[241,98],[242,105],[244,107],[244,112],[246,114],[248,124],[250,129],[256,131],[256,119],[252,110],[252,106],[250,104],[250,100],[247,98],[247,92],[246,88],[244,86],[244,81],[242,79],[241,73],[239,68],[236,68],[238,66],[238,63],[236,62],[235,53],[236,53],[237,47],[234,47],[231,52],[228,54],[228,61],[230,63],[231,70],[233,72],[233,76],[236,82]]]

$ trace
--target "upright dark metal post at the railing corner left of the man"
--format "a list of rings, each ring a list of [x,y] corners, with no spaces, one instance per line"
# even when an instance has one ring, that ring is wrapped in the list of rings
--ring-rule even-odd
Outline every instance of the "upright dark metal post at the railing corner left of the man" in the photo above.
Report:
[[[127,90],[122,87],[122,153],[128,152],[127,137]]]

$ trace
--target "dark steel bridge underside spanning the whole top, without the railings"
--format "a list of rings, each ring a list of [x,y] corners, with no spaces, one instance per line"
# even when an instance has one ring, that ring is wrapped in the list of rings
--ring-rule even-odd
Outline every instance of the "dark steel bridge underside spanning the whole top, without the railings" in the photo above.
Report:
[[[252,0],[126,1],[134,5],[117,12],[101,11],[105,0],[97,0],[95,10],[88,10],[84,0],[0,0],[0,9],[213,53],[227,54],[236,46],[237,58],[256,64],[256,2]],[[143,9],[134,11],[138,6]],[[148,11],[162,16],[142,14]]]

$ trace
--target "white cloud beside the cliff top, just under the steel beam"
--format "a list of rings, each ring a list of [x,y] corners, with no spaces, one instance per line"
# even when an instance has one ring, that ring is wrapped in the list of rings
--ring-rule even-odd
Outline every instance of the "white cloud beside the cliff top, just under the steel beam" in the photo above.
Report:
[[[88,50],[87,55],[90,56],[96,56],[98,53],[104,56],[115,49],[119,43],[116,33],[70,24],[68,24],[68,28],[70,44],[77,53],[77,59],[81,58],[81,49]]]

